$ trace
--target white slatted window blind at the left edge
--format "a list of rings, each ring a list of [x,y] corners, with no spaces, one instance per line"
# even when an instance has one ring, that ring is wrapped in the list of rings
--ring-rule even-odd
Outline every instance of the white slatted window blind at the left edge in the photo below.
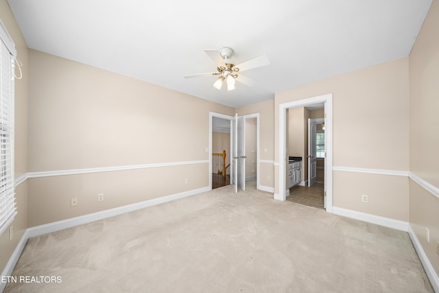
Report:
[[[16,215],[14,195],[14,43],[0,23],[0,235]]]

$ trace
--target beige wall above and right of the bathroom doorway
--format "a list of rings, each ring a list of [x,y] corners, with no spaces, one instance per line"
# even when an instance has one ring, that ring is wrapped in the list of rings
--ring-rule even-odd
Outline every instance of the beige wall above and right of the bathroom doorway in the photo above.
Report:
[[[275,96],[275,158],[278,160],[278,107],[285,102],[333,94],[333,165],[364,169],[409,169],[408,58],[298,86]],[[395,127],[398,126],[398,127]],[[333,205],[408,221],[408,180],[388,175],[333,172]],[[381,178],[382,177],[382,178]],[[389,192],[346,184],[385,183]],[[403,188],[401,188],[403,187]],[[276,192],[278,187],[276,186]],[[361,204],[361,195],[369,204]],[[397,204],[398,209],[381,209]]]

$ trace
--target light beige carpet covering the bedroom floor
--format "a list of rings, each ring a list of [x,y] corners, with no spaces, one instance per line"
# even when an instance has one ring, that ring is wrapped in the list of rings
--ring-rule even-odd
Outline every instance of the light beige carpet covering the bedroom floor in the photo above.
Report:
[[[407,233],[232,187],[29,239],[5,292],[433,292]]]

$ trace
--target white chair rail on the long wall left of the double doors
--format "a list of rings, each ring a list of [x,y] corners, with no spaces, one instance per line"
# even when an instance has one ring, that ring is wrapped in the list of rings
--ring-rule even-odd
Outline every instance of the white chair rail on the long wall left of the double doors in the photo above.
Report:
[[[206,163],[209,163],[209,160],[182,161],[182,162],[169,162],[169,163],[151,163],[151,164],[143,164],[143,165],[97,167],[97,168],[87,168],[87,169],[69,169],[69,170],[56,170],[56,171],[43,171],[43,172],[29,172],[29,173],[27,173],[27,178],[64,176],[64,175],[87,174],[87,173],[97,173],[97,172],[112,172],[112,171],[123,171],[123,170],[132,170],[132,169],[146,169],[146,168],[193,165],[193,164],[206,164]]]

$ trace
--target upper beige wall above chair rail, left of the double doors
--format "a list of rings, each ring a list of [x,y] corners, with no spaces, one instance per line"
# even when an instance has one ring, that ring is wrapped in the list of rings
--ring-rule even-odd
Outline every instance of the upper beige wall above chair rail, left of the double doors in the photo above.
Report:
[[[221,106],[29,50],[29,171],[206,160]]]

